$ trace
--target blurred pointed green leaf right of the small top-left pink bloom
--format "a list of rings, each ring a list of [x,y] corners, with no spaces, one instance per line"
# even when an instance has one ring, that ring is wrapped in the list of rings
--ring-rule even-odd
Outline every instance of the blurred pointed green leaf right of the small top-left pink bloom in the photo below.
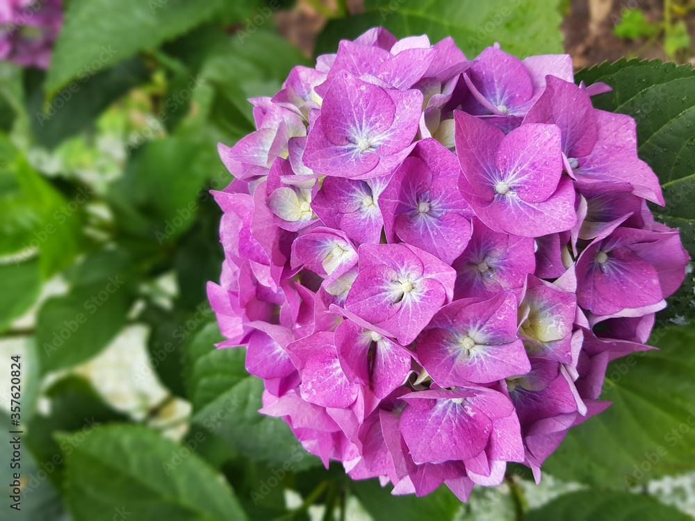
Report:
[[[72,0],[55,44],[47,88],[155,49],[208,20],[252,15],[256,0]],[[98,68],[97,68],[98,67]]]

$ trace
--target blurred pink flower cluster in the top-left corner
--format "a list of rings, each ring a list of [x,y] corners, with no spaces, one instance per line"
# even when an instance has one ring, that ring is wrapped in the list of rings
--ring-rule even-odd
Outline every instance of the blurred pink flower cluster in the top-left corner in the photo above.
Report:
[[[0,0],[0,60],[46,69],[63,24],[63,0]]]

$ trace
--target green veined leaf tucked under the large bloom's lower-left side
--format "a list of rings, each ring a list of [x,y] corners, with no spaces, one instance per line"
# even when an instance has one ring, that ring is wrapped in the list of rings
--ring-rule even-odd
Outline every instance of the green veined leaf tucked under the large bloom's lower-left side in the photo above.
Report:
[[[220,340],[217,324],[208,324],[187,346],[193,422],[256,461],[280,466],[290,461],[293,470],[317,465],[318,458],[304,452],[284,421],[258,412],[263,381],[246,372],[246,350],[215,349]]]

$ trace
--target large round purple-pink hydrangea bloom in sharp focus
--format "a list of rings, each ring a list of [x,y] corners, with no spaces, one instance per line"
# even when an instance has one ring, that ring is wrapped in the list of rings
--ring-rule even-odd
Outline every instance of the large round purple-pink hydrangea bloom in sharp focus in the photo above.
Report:
[[[606,89],[569,56],[377,28],[251,99],[208,295],[261,412],[396,494],[539,479],[688,261],[635,121],[591,106]]]

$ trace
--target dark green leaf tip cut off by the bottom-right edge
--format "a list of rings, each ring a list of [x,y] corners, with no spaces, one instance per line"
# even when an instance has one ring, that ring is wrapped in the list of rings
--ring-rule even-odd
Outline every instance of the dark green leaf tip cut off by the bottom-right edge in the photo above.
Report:
[[[579,490],[565,494],[552,502],[530,511],[527,521],[692,521],[689,515],[672,506],[661,504],[653,497],[611,492],[608,490]]]

